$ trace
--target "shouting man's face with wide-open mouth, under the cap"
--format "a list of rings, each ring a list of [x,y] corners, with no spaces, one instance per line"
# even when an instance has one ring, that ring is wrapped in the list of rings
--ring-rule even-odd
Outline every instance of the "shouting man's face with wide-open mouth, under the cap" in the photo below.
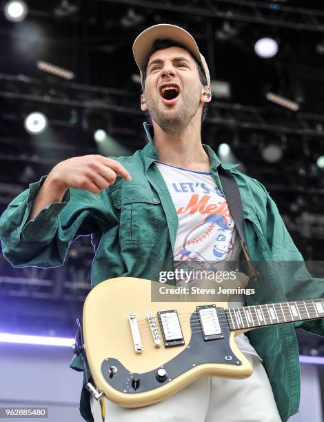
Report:
[[[169,47],[154,52],[146,70],[146,103],[142,110],[149,110],[164,132],[180,132],[201,103],[203,86],[194,58],[184,48]]]

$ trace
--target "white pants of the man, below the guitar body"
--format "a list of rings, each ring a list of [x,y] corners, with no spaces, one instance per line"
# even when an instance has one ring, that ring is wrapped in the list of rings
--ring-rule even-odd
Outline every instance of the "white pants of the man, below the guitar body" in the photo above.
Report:
[[[145,408],[121,408],[105,399],[105,422],[281,422],[270,381],[257,356],[245,354],[253,372],[245,379],[205,376]],[[102,422],[91,399],[94,422]]]

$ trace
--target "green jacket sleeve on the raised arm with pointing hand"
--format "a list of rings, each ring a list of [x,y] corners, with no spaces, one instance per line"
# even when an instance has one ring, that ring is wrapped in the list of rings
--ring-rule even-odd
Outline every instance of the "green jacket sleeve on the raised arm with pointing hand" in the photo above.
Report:
[[[14,267],[63,265],[68,247],[77,236],[103,232],[111,224],[105,192],[95,195],[78,189],[67,190],[60,203],[50,203],[28,221],[45,178],[30,184],[0,217],[2,252]]]

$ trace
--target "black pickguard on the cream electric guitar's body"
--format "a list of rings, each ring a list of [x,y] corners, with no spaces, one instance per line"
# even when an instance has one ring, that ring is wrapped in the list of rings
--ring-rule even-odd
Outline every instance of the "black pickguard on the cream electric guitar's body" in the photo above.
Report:
[[[226,321],[225,310],[223,308],[216,308],[219,320]],[[203,363],[225,363],[228,365],[240,366],[241,361],[234,355],[230,348],[230,328],[228,325],[224,326],[222,323],[222,334],[223,338],[205,341],[202,332],[195,329],[196,326],[196,314],[192,314],[190,318],[190,326],[192,330],[192,336],[190,343],[183,349],[181,353],[174,357],[171,361],[168,361],[159,368],[164,368],[168,373],[168,378],[164,382],[159,382],[156,379],[156,372],[159,368],[143,374],[136,374],[139,376],[139,387],[134,390],[132,387],[132,377],[134,374],[127,370],[117,359],[108,357],[101,364],[101,372],[105,381],[108,382],[114,389],[120,392],[126,392],[130,394],[137,394],[154,388],[159,388],[162,385],[170,382],[194,366],[202,365]],[[163,344],[161,347],[164,347]],[[227,356],[227,359],[225,359]],[[232,359],[228,360],[228,356],[232,356]],[[115,366],[117,372],[110,374],[109,368]]]

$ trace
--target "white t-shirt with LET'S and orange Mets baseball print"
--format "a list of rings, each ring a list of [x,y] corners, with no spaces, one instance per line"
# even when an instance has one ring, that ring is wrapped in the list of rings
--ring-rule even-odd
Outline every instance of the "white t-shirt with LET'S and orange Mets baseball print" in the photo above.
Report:
[[[211,173],[196,172],[174,165],[155,162],[171,194],[179,228],[174,245],[174,261],[194,265],[203,261],[204,270],[239,262],[241,244],[234,220],[221,190]],[[201,265],[199,267],[201,269]],[[245,305],[245,295],[236,295],[229,306]],[[235,338],[243,352],[259,356],[244,334]],[[260,356],[259,356],[260,357]],[[260,358],[261,359],[261,358]]]

